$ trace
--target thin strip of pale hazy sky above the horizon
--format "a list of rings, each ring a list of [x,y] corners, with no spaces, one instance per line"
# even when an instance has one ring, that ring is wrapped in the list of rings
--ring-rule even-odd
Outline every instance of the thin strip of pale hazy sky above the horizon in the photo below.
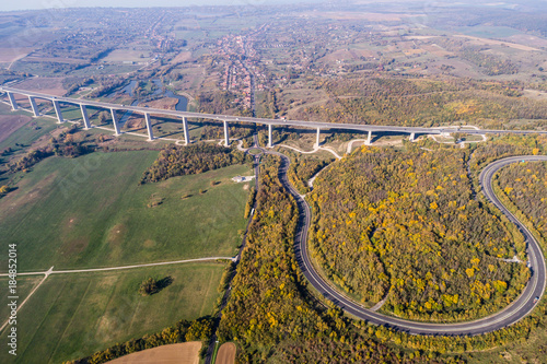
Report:
[[[1,0],[0,11],[78,7],[188,7],[323,2],[324,0]]]

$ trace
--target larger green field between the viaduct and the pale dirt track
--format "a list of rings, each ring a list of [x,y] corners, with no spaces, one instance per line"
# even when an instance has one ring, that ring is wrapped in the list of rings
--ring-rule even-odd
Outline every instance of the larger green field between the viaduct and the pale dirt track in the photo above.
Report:
[[[97,152],[49,157],[34,166],[0,200],[2,246],[18,244],[19,271],[236,254],[248,187],[230,178],[248,175],[249,168],[236,165],[139,185],[156,155]],[[0,259],[2,272],[5,259]]]

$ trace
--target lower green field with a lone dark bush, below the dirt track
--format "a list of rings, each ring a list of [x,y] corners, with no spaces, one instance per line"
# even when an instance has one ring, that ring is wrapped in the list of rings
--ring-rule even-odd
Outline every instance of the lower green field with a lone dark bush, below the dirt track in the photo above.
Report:
[[[221,295],[217,287],[224,267],[210,262],[53,274],[18,314],[16,359],[1,350],[0,363],[61,363],[160,331],[183,318],[211,315]],[[173,283],[161,292],[138,293],[147,278],[167,275]],[[0,284],[4,287],[7,280]],[[8,348],[5,332],[2,348]]]

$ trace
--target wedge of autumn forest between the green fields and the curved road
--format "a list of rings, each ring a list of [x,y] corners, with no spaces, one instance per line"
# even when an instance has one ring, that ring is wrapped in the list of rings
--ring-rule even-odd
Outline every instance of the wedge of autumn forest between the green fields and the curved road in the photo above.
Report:
[[[305,291],[292,248],[296,208],[278,180],[279,164],[271,155],[261,164],[257,213],[219,327],[221,341],[242,349],[237,362],[463,363],[419,349],[394,349],[375,328],[352,324]]]

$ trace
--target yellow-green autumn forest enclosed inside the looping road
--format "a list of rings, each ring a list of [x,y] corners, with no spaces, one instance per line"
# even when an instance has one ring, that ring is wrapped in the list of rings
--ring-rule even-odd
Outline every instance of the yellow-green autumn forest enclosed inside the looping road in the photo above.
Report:
[[[322,174],[310,244],[324,274],[418,320],[484,317],[514,300],[529,272],[503,259],[525,260],[525,245],[474,198],[468,153],[363,146]]]

